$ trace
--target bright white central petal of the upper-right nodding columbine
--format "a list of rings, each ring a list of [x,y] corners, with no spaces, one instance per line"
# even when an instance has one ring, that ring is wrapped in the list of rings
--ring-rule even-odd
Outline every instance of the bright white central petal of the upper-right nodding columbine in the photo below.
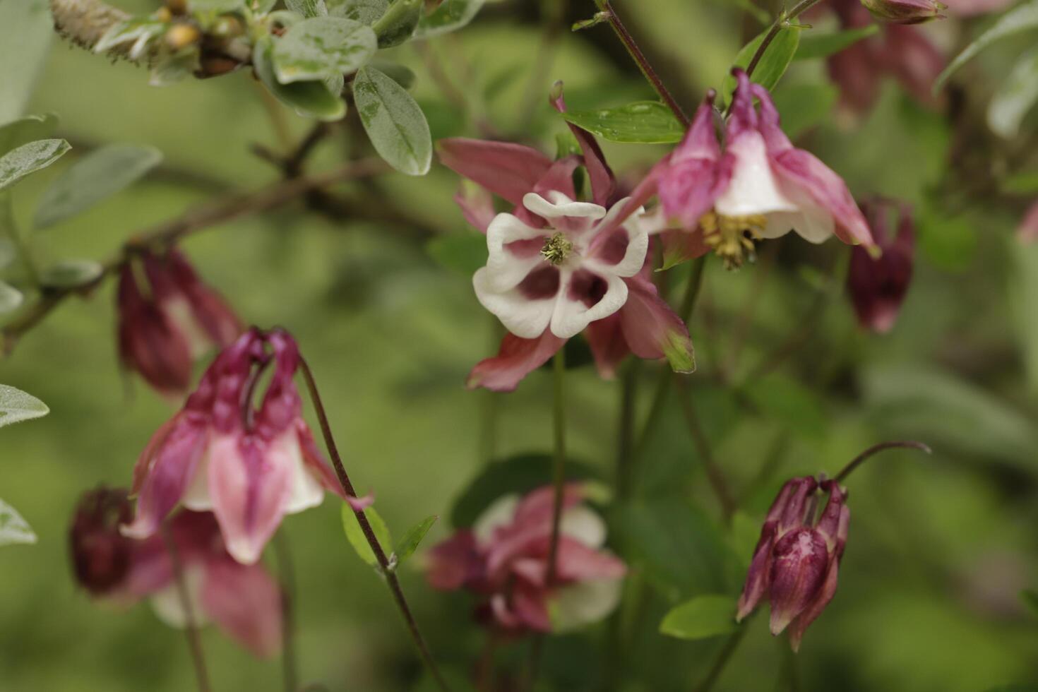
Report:
[[[726,155],[735,156],[735,170],[728,188],[714,202],[717,214],[752,216],[796,211],[796,204],[778,189],[764,138],[759,133],[742,134],[732,142]]]

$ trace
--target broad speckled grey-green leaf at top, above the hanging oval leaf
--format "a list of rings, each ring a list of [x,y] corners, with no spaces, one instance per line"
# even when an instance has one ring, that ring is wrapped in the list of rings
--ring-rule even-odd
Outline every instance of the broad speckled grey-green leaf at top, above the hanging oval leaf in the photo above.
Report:
[[[371,27],[338,17],[318,17],[289,27],[274,41],[274,73],[281,84],[356,72],[375,55]]]

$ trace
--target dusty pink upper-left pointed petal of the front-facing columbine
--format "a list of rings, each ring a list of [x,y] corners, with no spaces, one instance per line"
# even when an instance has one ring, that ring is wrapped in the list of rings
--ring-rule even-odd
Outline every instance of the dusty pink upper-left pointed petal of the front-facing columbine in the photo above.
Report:
[[[511,142],[456,137],[441,139],[438,150],[444,166],[517,205],[552,163],[537,149]]]

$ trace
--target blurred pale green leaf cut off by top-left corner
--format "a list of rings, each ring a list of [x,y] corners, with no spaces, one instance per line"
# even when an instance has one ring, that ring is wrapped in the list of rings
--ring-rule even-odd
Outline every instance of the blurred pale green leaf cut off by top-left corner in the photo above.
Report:
[[[0,0],[0,122],[22,115],[54,34],[47,0]]]

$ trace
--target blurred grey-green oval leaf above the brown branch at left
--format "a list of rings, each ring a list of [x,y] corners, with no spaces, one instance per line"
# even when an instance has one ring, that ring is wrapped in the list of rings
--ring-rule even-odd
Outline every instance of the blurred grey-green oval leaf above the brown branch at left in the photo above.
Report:
[[[109,144],[90,151],[58,175],[36,206],[37,228],[75,216],[114,195],[159,165],[152,146]]]

